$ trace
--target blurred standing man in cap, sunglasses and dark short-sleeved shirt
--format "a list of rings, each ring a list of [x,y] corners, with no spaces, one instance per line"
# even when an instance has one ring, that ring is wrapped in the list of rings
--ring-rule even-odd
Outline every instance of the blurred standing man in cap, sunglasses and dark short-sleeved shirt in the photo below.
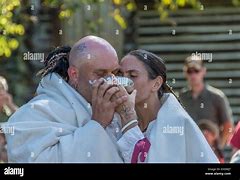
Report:
[[[227,97],[204,82],[207,70],[200,56],[186,58],[183,71],[189,84],[179,94],[183,106],[197,124],[201,119],[209,119],[218,125],[220,147],[224,148],[233,128]]]

